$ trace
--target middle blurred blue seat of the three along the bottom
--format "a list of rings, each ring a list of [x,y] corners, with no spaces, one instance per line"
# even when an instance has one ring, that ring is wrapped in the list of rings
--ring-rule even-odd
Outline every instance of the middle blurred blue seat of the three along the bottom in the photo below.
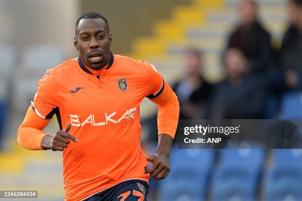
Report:
[[[213,174],[211,200],[256,200],[263,149],[224,149]]]

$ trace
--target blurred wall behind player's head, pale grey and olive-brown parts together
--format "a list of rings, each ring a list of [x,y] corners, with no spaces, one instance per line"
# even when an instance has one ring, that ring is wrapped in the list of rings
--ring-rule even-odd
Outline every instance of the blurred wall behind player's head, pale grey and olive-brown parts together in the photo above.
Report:
[[[175,5],[190,0],[0,0],[0,45],[12,45],[18,58],[37,44],[57,45],[66,58],[77,56],[73,47],[76,19],[87,11],[108,18],[114,53],[131,50],[138,36],[151,35],[154,23],[167,19]]]

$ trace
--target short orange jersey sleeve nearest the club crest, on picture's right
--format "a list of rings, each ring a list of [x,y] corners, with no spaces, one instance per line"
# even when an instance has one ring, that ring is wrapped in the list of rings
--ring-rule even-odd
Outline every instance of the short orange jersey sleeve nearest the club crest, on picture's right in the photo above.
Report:
[[[147,71],[147,98],[153,99],[161,94],[164,89],[164,81],[161,74],[156,68],[147,62],[143,62],[143,66]]]

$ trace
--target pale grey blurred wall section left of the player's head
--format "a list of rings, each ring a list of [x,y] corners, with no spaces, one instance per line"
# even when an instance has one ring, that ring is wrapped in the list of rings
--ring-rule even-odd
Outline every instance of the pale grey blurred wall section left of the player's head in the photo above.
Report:
[[[12,45],[21,54],[28,46],[51,43],[67,57],[76,56],[78,13],[78,0],[0,0],[0,45]]]

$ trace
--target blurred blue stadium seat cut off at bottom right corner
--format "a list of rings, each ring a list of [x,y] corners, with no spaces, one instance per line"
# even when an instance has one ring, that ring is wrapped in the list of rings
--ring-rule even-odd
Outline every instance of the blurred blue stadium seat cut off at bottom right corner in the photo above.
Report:
[[[302,149],[274,149],[264,182],[264,200],[302,200]]]

